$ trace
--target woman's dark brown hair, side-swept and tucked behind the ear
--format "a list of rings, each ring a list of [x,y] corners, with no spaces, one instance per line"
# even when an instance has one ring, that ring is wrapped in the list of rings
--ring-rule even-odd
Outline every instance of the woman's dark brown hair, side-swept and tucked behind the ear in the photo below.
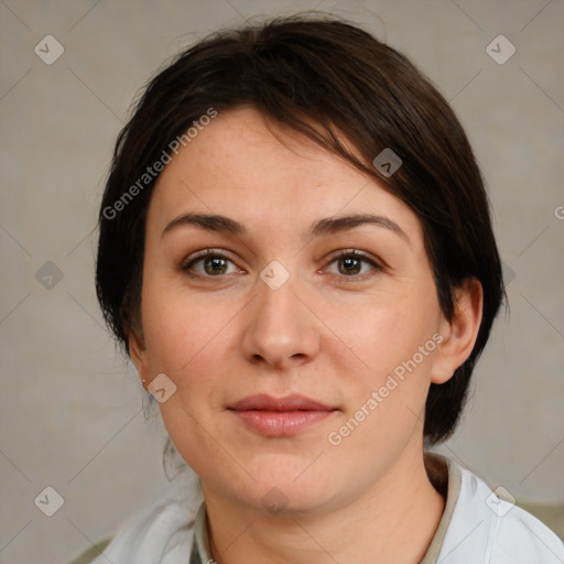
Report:
[[[109,327],[129,354],[127,333],[140,324],[145,217],[156,178],[119,213],[115,203],[210,107],[221,112],[243,105],[345,158],[415,213],[447,318],[456,286],[469,278],[481,283],[474,350],[453,378],[431,386],[426,401],[426,443],[445,440],[505,297],[488,199],[466,134],[443,96],[404,55],[343,20],[297,14],[219,31],[149,83],[118,137],[100,206],[96,288]],[[402,161],[390,176],[372,164],[384,149]]]

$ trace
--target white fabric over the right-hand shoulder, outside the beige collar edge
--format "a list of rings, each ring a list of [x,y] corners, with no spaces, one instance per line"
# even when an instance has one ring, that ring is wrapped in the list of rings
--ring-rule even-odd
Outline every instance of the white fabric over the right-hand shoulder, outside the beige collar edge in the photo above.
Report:
[[[455,463],[449,462],[451,467]],[[465,468],[460,491],[438,561],[444,564],[562,564],[564,544],[539,519],[514,505],[502,488],[492,491]]]

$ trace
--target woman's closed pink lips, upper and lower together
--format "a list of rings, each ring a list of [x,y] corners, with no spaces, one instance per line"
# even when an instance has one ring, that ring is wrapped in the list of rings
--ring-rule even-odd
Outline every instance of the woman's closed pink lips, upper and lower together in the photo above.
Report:
[[[227,410],[247,429],[271,437],[295,435],[338,411],[337,408],[299,394],[283,398],[249,395],[228,405]]]

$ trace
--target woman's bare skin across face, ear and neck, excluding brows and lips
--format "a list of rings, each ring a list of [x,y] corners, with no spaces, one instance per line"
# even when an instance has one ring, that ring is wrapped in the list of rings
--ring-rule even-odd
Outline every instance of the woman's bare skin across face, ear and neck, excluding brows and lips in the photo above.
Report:
[[[163,235],[188,212],[228,216],[248,234],[183,225]],[[351,214],[383,216],[405,238],[381,225],[307,235]],[[228,261],[206,270],[200,260],[189,275],[183,265],[204,249]],[[341,249],[381,268],[346,270]],[[260,278],[273,260],[290,275],[278,290]],[[173,159],[149,208],[142,327],[129,345],[145,386],[159,373],[176,386],[160,410],[202,479],[219,564],[422,558],[444,508],[423,465],[425,399],[469,356],[481,319],[479,283],[458,296],[447,322],[409,207],[251,108],[220,113]],[[330,444],[433,335],[434,350]],[[253,393],[301,393],[335,411],[295,435],[263,436],[227,409]],[[283,494],[278,514],[263,501],[272,488]]]

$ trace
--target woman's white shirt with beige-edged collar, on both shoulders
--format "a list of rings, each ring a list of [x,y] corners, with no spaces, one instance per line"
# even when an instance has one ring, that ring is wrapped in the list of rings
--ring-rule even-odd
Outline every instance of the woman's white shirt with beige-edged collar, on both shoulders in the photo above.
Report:
[[[425,464],[446,505],[421,564],[564,564],[564,543],[535,517],[453,460],[425,453]],[[182,471],[93,564],[212,564],[206,519],[197,476]]]

